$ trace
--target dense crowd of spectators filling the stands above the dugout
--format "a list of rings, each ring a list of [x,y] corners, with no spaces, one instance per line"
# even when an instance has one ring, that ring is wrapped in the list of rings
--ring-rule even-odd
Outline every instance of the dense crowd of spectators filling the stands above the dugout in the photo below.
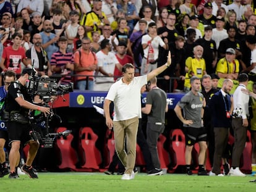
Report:
[[[0,67],[108,91],[123,65],[145,75],[171,51],[158,75],[166,93],[188,92],[191,77],[207,74],[255,81],[255,25],[252,0],[0,0]],[[256,174],[255,132],[252,141]]]

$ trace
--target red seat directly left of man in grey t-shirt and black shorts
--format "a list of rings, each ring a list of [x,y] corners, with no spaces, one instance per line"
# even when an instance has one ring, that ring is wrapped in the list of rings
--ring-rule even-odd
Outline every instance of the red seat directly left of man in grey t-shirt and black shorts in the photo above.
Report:
[[[173,162],[173,169],[177,169],[179,165],[186,165],[185,150],[186,140],[185,135],[180,129],[175,129],[171,132],[171,159]]]

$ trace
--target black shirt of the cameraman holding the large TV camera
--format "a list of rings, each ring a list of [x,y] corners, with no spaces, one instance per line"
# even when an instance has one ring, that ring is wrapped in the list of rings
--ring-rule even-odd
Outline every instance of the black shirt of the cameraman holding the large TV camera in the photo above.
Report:
[[[20,111],[21,114],[26,114],[28,109],[20,107],[19,103],[15,101],[15,98],[22,97],[28,102],[32,102],[30,95],[27,93],[27,88],[23,86],[19,81],[14,81],[8,88],[6,98],[6,111]]]

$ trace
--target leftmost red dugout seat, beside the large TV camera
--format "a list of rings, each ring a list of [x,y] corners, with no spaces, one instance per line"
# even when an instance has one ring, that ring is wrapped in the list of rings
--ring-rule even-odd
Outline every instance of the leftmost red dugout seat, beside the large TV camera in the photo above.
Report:
[[[59,127],[56,132],[62,132],[67,130],[65,127]],[[68,136],[60,136],[57,138],[56,144],[57,147],[60,150],[60,160],[61,164],[59,165],[59,169],[76,169],[75,164],[77,164],[78,158],[77,158],[77,152],[74,148],[71,146],[71,142],[73,140],[74,136],[72,134],[69,134]]]

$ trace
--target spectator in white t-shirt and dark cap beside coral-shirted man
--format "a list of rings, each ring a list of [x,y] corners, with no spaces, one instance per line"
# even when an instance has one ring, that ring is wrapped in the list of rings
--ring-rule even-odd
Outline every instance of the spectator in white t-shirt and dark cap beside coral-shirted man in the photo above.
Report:
[[[120,46],[126,46],[126,43],[120,42]],[[114,69],[122,70],[122,65],[116,59],[116,56],[111,52],[111,44],[109,40],[100,42],[101,51],[96,53],[98,59],[98,73],[95,75],[94,91],[108,91],[114,83]],[[127,47],[127,46],[126,46]]]

